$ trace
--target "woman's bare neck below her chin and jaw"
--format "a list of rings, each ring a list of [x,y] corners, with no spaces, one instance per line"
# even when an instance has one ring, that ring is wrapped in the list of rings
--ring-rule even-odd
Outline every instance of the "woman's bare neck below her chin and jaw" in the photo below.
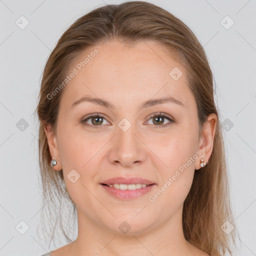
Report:
[[[85,216],[77,208],[78,235],[70,247],[70,255],[122,255],[130,256],[180,256],[193,255],[182,230],[182,206],[158,226],[147,227],[146,230],[132,231],[121,234],[118,225],[113,229],[105,228]],[[163,217],[164,219],[164,217]],[[115,223],[121,223],[122,220]],[[127,221],[128,222],[128,221]],[[131,221],[130,221],[131,223]],[[116,231],[115,231],[115,228]]]

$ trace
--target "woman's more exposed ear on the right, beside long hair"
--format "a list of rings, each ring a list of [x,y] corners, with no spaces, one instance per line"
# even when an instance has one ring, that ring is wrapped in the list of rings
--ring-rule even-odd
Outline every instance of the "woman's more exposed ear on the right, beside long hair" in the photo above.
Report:
[[[208,115],[207,120],[203,124],[202,134],[199,138],[198,150],[201,152],[201,155],[197,158],[195,169],[198,170],[201,168],[200,160],[203,158],[204,162],[208,162],[212,148],[213,148],[213,139],[216,132],[217,116],[214,113]]]

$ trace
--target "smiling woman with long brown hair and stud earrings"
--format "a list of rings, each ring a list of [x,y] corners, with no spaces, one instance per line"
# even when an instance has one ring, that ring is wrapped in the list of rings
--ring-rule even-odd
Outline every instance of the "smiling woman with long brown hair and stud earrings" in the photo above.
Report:
[[[68,198],[78,234],[60,221],[69,243],[45,255],[232,253],[212,79],[192,31],[152,3],[98,7],[63,33],[41,81],[39,159],[45,202]]]

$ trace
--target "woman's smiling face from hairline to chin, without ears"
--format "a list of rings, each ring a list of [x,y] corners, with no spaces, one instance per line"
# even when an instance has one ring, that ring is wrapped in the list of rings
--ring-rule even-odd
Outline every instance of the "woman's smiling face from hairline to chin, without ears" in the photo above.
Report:
[[[117,233],[123,221],[134,234],[160,226],[181,208],[201,158],[196,102],[184,68],[152,41],[133,47],[105,42],[86,50],[73,68],[78,72],[63,88],[52,154],[78,217]],[[173,68],[182,75],[169,74]],[[73,104],[83,97],[97,102]],[[155,101],[161,98],[175,100]],[[101,184],[114,177],[153,185],[135,197],[119,190],[118,197],[108,192],[114,187]]]

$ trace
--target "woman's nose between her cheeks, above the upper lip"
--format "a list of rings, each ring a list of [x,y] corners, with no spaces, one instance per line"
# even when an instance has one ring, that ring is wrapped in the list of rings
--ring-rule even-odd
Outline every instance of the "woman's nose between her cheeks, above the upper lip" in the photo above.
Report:
[[[116,127],[116,134],[110,141],[108,159],[113,164],[132,167],[145,161],[146,146],[142,134],[131,125],[127,130]]]

